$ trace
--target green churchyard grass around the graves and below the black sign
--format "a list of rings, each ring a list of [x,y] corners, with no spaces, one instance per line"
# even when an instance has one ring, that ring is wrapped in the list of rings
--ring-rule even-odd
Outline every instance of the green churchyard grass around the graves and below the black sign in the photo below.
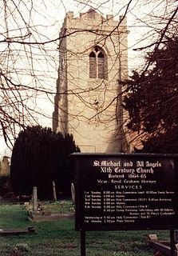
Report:
[[[73,210],[71,202],[44,204],[45,210]],[[0,205],[0,229],[34,226],[34,234],[0,237],[1,256],[79,256],[80,232],[74,220],[30,222],[22,205]],[[168,239],[169,231],[89,231],[86,232],[86,256],[152,256],[148,234]]]

